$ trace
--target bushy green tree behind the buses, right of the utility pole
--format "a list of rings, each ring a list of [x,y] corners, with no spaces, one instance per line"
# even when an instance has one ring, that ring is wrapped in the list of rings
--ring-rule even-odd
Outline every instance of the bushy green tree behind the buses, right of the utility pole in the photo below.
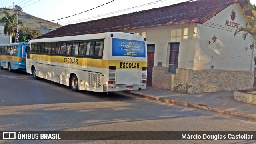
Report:
[[[34,28],[20,28],[19,30],[19,41],[20,42],[28,42],[29,40],[32,40],[33,38],[37,38],[38,36],[42,35],[41,32]]]

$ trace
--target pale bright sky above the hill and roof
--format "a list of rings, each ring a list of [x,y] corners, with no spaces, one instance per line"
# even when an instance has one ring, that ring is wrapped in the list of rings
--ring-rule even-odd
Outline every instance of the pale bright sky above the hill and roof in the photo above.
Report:
[[[0,7],[12,8],[14,3],[20,6],[23,12],[48,21],[54,20],[52,22],[65,26],[184,1],[189,0],[0,0]],[[256,4],[256,0],[250,2]],[[92,8],[94,9],[90,10]],[[77,15],[72,16],[75,14]],[[65,18],[68,16],[70,17]],[[60,18],[63,19],[57,20]]]

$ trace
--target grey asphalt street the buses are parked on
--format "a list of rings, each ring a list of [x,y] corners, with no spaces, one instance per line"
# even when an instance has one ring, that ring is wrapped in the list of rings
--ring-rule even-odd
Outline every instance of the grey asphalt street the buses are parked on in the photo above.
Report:
[[[0,70],[0,131],[255,131],[256,121],[148,100],[122,92],[73,92],[24,71]],[[13,141],[2,141],[13,143]],[[2,143],[1,142],[1,143]],[[15,143],[36,141],[15,141]],[[170,140],[40,141],[41,143],[170,143]],[[175,143],[250,143],[179,140]]]

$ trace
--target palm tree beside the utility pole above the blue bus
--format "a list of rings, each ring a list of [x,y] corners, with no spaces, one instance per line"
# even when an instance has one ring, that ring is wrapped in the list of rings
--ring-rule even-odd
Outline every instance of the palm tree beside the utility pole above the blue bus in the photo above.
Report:
[[[6,10],[2,11],[4,16],[0,19],[1,23],[4,25],[4,34],[8,36],[14,36],[16,14],[9,14]],[[20,16],[20,14],[18,14]],[[22,22],[18,21],[18,26],[23,26]]]

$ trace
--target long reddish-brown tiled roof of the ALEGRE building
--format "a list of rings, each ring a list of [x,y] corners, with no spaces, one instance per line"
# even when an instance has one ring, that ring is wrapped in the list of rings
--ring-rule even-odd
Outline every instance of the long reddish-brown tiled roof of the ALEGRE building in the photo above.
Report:
[[[113,32],[184,23],[203,24],[230,4],[237,2],[242,7],[248,4],[247,0],[196,0],[182,2],[161,8],[70,24],[38,38]]]

